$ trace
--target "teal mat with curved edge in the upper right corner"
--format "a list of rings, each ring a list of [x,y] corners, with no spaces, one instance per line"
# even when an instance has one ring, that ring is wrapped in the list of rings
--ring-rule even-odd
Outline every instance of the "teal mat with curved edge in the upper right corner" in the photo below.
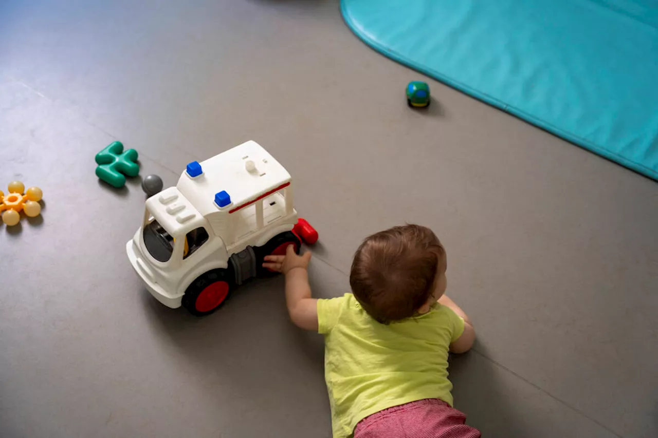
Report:
[[[387,57],[658,180],[656,0],[342,0],[342,12]]]

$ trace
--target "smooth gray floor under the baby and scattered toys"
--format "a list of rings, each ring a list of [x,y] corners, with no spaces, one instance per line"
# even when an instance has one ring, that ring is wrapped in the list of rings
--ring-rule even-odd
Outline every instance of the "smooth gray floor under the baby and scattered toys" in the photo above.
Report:
[[[142,175],[247,139],[290,170],[320,231],[314,292],[347,291],[368,233],[431,226],[478,343],[456,406],[485,437],[658,436],[658,184],[374,53],[337,1],[0,3],[0,189],[43,220],[0,228],[0,436],[329,437],[322,339],[280,278],[221,312],[164,308],[132,272]],[[183,3],[186,3],[183,5]]]

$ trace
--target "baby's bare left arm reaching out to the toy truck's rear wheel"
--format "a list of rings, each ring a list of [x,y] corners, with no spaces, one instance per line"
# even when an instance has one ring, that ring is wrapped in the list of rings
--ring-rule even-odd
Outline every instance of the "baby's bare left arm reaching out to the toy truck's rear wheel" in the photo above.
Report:
[[[309,260],[311,253],[298,256],[293,245],[289,245],[285,256],[265,256],[263,267],[286,276],[286,305],[292,322],[300,328],[317,331],[318,300],[311,298]]]

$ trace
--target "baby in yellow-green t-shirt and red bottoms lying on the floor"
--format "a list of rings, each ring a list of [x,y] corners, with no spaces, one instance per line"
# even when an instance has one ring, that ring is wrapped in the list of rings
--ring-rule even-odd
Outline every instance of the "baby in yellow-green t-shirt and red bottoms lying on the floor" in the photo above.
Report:
[[[311,253],[266,256],[286,276],[297,326],[324,335],[324,374],[334,438],[478,438],[452,408],[448,352],[475,331],[445,294],[445,249],[429,228],[393,227],[367,237],[354,256],[352,293],[311,298]]]

